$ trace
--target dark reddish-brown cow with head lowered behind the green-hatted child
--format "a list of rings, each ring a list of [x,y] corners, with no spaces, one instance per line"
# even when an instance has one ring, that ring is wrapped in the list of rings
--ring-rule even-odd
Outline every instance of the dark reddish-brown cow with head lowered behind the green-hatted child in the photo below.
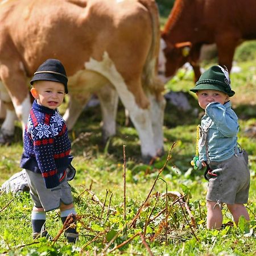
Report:
[[[216,43],[218,63],[230,71],[238,44],[256,39],[255,13],[255,0],[176,0],[162,32],[164,54],[159,68],[163,81],[187,61],[197,81],[204,44]]]

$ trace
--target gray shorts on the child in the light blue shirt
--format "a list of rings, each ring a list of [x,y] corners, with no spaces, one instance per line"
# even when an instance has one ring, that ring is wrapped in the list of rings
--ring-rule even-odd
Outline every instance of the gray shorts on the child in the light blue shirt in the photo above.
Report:
[[[242,151],[222,162],[210,162],[212,175],[206,199],[225,204],[246,204],[250,188],[248,155]]]

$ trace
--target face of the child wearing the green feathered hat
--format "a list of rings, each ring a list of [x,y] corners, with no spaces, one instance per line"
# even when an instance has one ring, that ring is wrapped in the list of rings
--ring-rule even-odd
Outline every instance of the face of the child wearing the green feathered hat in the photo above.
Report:
[[[210,102],[224,104],[229,101],[229,96],[220,90],[198,90],[196,93],[199,106],[205,109]]]

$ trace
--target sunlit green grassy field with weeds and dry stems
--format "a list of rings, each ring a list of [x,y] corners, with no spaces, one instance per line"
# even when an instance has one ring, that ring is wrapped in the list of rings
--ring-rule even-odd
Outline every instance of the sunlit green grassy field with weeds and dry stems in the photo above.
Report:
[[[70,133],[77,170],[70,184],[79,214],[79,241],[69,245],[62,235],[56,242],[45,238],[33,241],[29,193],[2,193],[0,255],[256,255],[256,139],[255,133],[249,133],[256,121],[256,56],[241,60],[238,55],[236,61],[241,72],[231,75],[236,91],[232,104],[240,118],[238,142],[249,152],[251,187],[246,207],[250,222],[241,218],[238,226],[233,225],[224,208],[224,227],[220,231],[205,228],[207,181],[190,165],[201,115],[195,95],[189,94],[192,109],[187,112],[167,104],[163,127],[166,154],[151,165],[141,161],[137,132],[133,125],[125,126],[121,104],[117,135],[105,146],[101,143],[101,113],[96,106],[82,112]],[[211,64],[216,63],[204,63],[203,68]],[[180,69],[166,85],[166,92],[188,92],[192,86],[191,71]],[[0,184],[20,171],[21,138],[17,122],[14,143],[0,147]],[[180,193],[181,200],[174,191]],[[59,212],[47,213],[47,229],[52,237],[61,232]]]

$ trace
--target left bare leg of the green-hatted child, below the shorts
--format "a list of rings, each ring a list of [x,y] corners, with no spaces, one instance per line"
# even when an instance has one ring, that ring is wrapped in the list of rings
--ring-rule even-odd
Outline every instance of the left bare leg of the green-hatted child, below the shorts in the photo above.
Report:
[[[217,202],[207,200],[207,228],[220,229],[222,225],[222,212]]]

